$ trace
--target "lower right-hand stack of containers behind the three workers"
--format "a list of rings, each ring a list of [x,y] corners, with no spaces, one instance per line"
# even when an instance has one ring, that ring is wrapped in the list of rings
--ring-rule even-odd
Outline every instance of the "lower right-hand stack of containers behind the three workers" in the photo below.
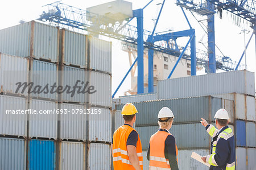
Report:
[[[135,129],[142,140],[143,164],[147,168],[149,139],[159,128],[158,111],[164,106],[170,107],[175,114],[170,132],[175,136],[179,150],[180,169],[208,169],[191,159],[193,151],[200,155],[210,152],[212,139],[201,125],[200,118],[214,125],[214,114],[224,108],[229,113],[229,127],[236,140],[237,169],[253,169],[256,155],[254,89],[254,74],[247,71],[174,78],[159,81],[157,93],[114,99],[113,108],[118,113],[123,104],[130,101],[137,107],[139,114]],[[122,123],[122,118],[115,114],[115,128]]]

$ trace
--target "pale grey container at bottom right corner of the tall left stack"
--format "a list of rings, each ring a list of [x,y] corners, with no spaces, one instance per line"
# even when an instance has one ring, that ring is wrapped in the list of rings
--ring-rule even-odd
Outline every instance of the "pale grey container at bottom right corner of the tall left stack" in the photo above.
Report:
[[[109,144],[89,143],[88,169],[111,169],[111,147]]]

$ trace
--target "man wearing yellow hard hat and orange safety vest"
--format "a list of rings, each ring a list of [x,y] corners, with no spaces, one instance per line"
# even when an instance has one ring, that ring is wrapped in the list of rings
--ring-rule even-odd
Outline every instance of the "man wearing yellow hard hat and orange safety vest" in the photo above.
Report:
[[[132,103],[123,106],[122,117],[125,123],[115,130],[111,145],[114,170],[143,169],[141,139],[133,128],[137,113]]]

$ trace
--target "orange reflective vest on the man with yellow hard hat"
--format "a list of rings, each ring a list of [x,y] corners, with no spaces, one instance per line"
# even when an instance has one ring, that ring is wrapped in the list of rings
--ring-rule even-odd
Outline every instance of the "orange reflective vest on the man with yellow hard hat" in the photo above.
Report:
[[[126,142],[131,133],[135,130],[129,125],[120,126],[113,135],[113,165],[115,170],[121,169],[135,169],[130,163],[127,152]],[[139,165],[143,169],[142,146],[141,139],[138,136],[137,142],[137,156],[139,158]]]

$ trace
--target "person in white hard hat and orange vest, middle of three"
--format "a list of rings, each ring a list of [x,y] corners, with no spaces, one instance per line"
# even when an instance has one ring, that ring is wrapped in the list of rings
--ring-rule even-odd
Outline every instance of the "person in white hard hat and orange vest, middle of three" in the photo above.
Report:
[[[147,151],[150,170],[179,169],[177,165],[177,146],[174,136],[168,131],[172,127],[174,114],[168,107],[158,113],[159,130],[151,136]]]

